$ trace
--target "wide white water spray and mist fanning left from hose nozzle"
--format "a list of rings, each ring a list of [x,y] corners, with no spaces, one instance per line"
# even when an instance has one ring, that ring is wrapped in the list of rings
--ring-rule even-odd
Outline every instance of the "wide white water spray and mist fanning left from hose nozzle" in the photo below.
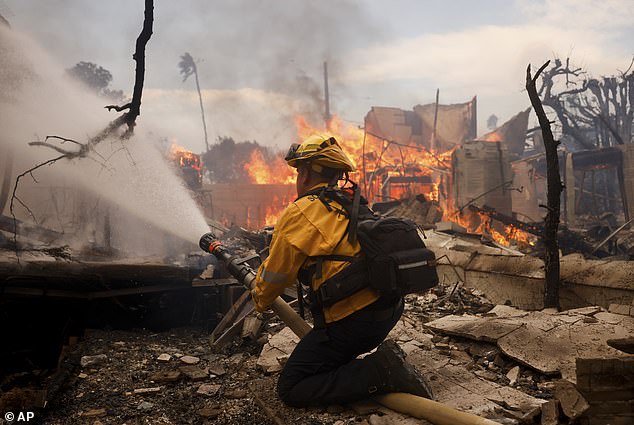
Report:
[[[0,156],[13,152],[14,179],[59,155],[28,142],[59,135],[85,143],[116,117],[104,110],[104,99],[65,78],[62,66],[15,31],[0,28],[0,57]],[[150,131],[139,127],[137,134]],[[61,243],[76,247],[104,242],[107,216],[114,247],[140,254],[165,252],[157,239],[164,242],[166,234],[196,243],[208,229],[181,180],[143,136],[106,140],[87,158],[62,159],[26,175],[18,196],[31,210],[16,204],[18,218],[62,232]]]

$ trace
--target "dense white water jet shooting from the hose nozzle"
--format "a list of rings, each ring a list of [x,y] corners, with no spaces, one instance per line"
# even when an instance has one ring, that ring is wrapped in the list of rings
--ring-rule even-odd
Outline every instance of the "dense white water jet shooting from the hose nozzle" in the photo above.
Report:
[[[109,103],[107,99],[87,93],[70,81],[64,67],[15,31],[0,28],[0,58],[0,156],[13,152],[14,178],[59,155],[46,147],[28,146],[28,142],[59,135],[85,143],[116,118],[115,113],[103,109]],[[130,68],[132,72],[132,62]],[[143,115],[138,121],[136,135],[129,140],[105,140],[89,154],[90,158],[63,159],[39,169],[34,173],[37,185],[25,176],[18,195],[28,199],[26,192],[34,187],[81,187],[97,200],[107,200],[154,228],[197,244],[209,227],[182,180],[157,150],[149,135],[151,129],[143,127]],[[148,136],[139,136],[145,134]],[[59,146],[77,148],[68,142]],[[41,194],[39,189],[33,193]],[[37,201],[35,204],[50,204],[42,196]],[[94,210],[99,208],[95,206]],[[5,215],[9,215],[8,209]],[[15,209],[20,218],[28,218],[21,206]],[[38,208],[32,209],[36,217],[41,213]],[[90,218],[91,212],[84,213]],[[148,232],[156,232],[152,226],[148,226]],[[125,237],[144,229],[118,230]]]

